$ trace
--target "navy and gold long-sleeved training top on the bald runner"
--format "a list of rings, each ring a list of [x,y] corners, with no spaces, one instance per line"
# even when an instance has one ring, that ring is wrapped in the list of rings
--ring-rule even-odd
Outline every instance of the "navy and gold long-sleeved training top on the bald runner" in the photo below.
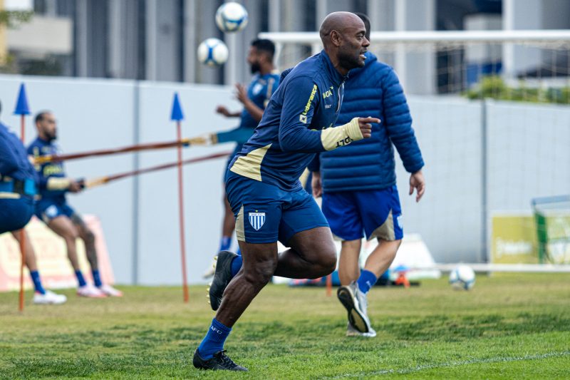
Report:
[[[301,188],[299,177],[314,153],[351,141],[323,133],[336,123],[345,80],[325,51],[295,66],[271,96],[252,138],[229,170],[282,190]]]

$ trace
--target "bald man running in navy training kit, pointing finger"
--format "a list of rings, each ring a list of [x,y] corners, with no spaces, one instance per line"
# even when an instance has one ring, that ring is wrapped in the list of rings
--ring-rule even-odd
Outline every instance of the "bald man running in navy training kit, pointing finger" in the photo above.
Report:
[[[195,351],[196,368],[247,371],[224,353],[224,342],[271,276],[316,278],[336,267],[331,230],[299,177],[315,153],[370,138],[370,123],[380,123],[353,118],[334,126],[348,71],[364,66],[370,45],[365,34],[355,14],[326,16],[320,29],[324,50],[286,76],[254,135],[229,164],[226,193],[243,265],[232,252],[219,253],[210,288],[217,314]],[[291,248],[278,253],[278,240]]]

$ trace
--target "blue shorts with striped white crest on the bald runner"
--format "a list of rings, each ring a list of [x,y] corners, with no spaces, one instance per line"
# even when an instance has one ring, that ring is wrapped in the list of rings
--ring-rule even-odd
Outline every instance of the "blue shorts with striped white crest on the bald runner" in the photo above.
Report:
[[[303,188],[285,191],[227,171],[226,194],[236,217],[237,240],[287,245],[297,232],[328,223],[315,200]]]

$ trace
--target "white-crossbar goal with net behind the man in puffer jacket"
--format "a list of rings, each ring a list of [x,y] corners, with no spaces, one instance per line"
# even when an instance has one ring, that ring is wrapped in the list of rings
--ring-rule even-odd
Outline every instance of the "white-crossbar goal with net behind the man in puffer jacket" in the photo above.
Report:
[[[321,51],[316,33],[260,37],[281,70]],[[398,74],[425,160],[416,203],[395,151],[405,234],[437,263],[491,262],[493,215],[532,225],[534,197],[570,189],[570,31],[373,31],[369,50]],[[517,231],[500,237],[539,262],[536,232]]]

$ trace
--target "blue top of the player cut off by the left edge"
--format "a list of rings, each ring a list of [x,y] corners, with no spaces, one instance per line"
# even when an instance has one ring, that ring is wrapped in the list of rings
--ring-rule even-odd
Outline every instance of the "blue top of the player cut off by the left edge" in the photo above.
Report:
[[[0,123],[0,178],[3,178],[3,182],[9,178],[36,182],[36,171],[28,160],[26,148],[2,123]]]

